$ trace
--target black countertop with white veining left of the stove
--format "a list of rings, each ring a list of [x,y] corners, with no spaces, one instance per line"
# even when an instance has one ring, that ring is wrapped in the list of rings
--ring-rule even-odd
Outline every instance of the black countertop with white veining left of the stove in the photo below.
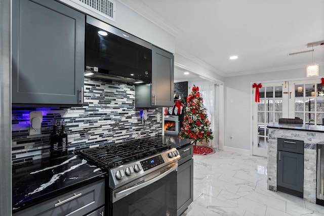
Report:
[[[73,153],[55,162],[44,158],[13,166],[13,212],[98,181],[105,174]]]

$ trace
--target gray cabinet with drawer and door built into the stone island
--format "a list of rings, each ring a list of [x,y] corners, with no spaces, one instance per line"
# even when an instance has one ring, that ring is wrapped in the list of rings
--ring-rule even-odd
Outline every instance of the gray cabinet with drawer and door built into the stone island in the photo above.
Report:
[[[304,142],[278,139],[277,190],[303,197]]]

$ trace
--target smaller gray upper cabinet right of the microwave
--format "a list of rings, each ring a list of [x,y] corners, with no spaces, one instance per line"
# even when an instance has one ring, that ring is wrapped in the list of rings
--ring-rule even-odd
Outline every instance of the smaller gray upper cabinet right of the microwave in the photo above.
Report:
[[[152,46],[152,83],[136,85],[136,107],[171,107],[174,104],[174,56]]]

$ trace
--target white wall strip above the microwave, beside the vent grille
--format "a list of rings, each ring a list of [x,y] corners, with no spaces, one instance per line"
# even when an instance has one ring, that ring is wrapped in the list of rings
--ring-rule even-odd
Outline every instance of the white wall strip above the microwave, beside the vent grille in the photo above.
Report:
[[[83,13],[89,14],[97,19],[100,19],[110,25],[113,25],[121,30],[131,33],[151,44],[175,53],[175,37],[169,32],[161,29],[157,25],[148,21],[141,15],[137,14],[127,6],[115,1],[116,12],[115,21],[92,12],[84,7],[80,7],[71,0],[58,0],[72,8],[75,8]],[[77,1],[76,1],[77,2]]]

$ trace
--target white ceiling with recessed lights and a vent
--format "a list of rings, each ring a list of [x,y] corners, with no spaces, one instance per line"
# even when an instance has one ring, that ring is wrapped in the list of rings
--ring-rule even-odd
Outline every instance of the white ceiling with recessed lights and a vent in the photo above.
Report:
[[[306,68],[324,40],[324,0],[123,0],[176,38],[176,53],[222,76]],[[324,46],[313,47],[324,65]],[[237,55],[237,60],[229,60]],[[175,79],[182,72],[175,70]],[[181,74],[177,74],[181,73]]]

